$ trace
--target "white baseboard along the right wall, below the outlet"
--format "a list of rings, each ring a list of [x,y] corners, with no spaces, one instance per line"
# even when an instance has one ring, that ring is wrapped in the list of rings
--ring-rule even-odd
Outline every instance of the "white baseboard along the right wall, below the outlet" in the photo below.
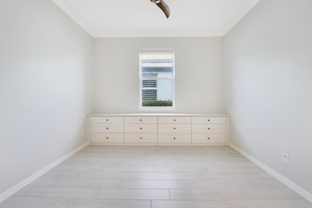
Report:
[[[249,159],[250,161],[252,161],[255,165],[257,165],[262,170],[265,170],[266,172],[268,172],[269,174],[274,176],[277,180],[279,180],[280,182],[282,182],[283,184],[288,186],[290,189],[294,190],[296,193],[301,195],[307,201],[312,203],[312,193],[308,192],[305,189],[302,189],[301,187],[299,187],[297,184],[293,183],[291,180],[289,180],[285,176],[281,175],[280,173],[276,172],[275,170],[273,170],[272,168],[268,167],[264,163],[260,162],[259,160],[257,160],[256,158],[254,158],[253,156],[248,154],[247,152],[239,149],[234,144],[230,143],[230,147],[233,148],[238,153],[240,153],[241,155],[243,155],[244,157],[246,157],[247,159]]]

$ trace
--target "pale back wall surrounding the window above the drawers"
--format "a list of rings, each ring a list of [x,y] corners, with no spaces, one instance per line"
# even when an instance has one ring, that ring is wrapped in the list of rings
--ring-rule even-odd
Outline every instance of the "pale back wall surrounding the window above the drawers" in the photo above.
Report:
[[[95,113],[139,112],[139,48],[175,48],[175,113],[223,113],[220,37],[95,38]]]

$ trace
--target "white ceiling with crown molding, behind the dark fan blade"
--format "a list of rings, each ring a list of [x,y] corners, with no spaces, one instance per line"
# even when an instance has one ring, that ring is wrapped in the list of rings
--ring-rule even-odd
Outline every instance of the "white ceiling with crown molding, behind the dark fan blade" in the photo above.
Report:
[[[92,37],[224,36],[260,0],[52,0]]]

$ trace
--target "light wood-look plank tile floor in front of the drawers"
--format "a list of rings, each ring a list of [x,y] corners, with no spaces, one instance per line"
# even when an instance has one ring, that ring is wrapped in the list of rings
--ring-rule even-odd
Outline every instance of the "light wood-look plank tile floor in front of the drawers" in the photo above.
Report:
[[[312,208],[230,147],[88,146],[0,208]]]

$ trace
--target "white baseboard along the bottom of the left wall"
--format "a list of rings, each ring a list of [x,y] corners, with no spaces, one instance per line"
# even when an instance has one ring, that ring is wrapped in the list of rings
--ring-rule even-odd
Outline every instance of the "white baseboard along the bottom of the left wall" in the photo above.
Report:
[[[21,181],[19,184],[15,185],[14,187],[4,191],[3,193],[0,194],[0,203],[3,202],[4,200],[6,200],[7,198],[9,198],[10,196],[12,196],[13,194],[15,194],[16,192],[18,192],[20,189],[23,189],[25,186],[27,186],[28,184],[35,181],[37,178],[39,178],[40,176],[42,176],[46,172],[55,168],[56,166],[58,166],[59,164],[61,164],[62,162],[64,162],[65,160],[67,160],[68,158],[73,156],[74,154],[76,154],[78,151],[85,148],[86,146],[87,146],[87,142],[80,145],[75,150],[72,150],[72,151],[68,152],[67,154],[63,155],[62,157],[60,157],[58,160],[54,161],[50,165],[48,165],[48,166],[44,167],[43,169],[37,171],[36,173],[29,176],[25,180]]]

